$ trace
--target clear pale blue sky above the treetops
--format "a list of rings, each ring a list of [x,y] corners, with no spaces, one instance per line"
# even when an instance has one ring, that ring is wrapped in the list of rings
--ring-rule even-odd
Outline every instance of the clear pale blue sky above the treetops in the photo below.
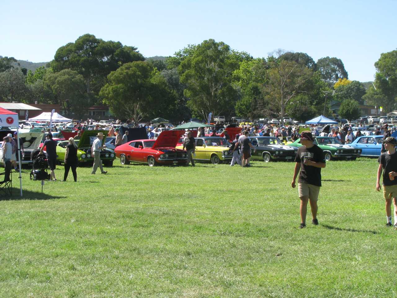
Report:
[[[349,79],[373,80],[397,48],[397,1],[10,1],[1,3],[0,55],[50,61],[90,33],[168,56],[205,39],[254,57],[278,48],[340,58]]]

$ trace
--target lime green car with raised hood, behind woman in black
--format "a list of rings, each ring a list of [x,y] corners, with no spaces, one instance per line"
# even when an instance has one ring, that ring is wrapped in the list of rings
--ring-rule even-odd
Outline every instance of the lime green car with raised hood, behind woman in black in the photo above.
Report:
[[[94,161],[94,157],[91,152],[91,147],[93,145],[94,140],[96,139],[96,135],[102,132],[106,135],[108,132],[106,130],[85,130],[81,134],[81,138],[79,140],[75,140],[77,145],[77,159],[79,163],[92,163]],[[105,138],[102,140],[102,144]],[[56,146],[56,159],[58,163],[63,163],[65,160],[66,154],[66,146],[69,144],[68,140],[58,141]],[[45,151],[45,148],[44,148]],[[35,151],[33,154],[33,160],[39,154],[39,150]],[[113,150],[104,148],[100,152],[100,159],[105,166],[113,166],[113,161],[116,159],[116,154]]]

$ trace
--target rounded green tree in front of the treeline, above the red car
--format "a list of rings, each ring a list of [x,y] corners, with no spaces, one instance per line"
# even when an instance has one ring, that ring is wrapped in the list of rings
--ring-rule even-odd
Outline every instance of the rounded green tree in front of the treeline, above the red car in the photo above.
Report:
[[[152,64],[137,61],[111,72],[99,95],[116,117],[140,121],[160,104],[164,85]]]

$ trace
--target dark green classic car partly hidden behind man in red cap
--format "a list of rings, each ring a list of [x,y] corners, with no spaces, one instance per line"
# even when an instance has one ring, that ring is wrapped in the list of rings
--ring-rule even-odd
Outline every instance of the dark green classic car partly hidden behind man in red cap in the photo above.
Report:
[[[361,156],[362,149],[352,144],[343,145],[335,137],[315,137],[313,143],[323,149],[326,161],[330,161],[331,159],[355,160]],[[290,146],[301,147],[301,139],[297,139]]]

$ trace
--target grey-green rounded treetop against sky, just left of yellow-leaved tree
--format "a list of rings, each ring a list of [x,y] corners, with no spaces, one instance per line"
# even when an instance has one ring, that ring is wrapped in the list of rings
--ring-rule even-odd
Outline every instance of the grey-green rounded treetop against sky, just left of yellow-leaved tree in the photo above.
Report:
[[[317,60],[317,70],[320,71],[322,79],[332,87],[339,79],[348,78],[347,71],[342,60],[335,57],[325,57]]]

